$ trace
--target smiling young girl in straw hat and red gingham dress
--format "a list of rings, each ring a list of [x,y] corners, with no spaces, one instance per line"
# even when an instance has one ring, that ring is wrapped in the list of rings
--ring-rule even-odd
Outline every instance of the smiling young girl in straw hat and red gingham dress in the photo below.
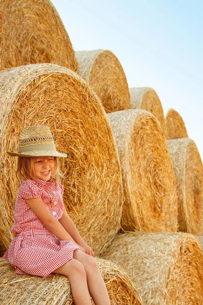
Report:
[[[91,305],[90,295],[96,305],[109,305],[94,253],[63,206],[57,157],[67,155],[56,150],[49,127],[26,128],[18,153],[8,154],[18,156],[17,176],[22,184],[12,226],[16,237],[3,257],[22,275],[65,275],[76,305]]]

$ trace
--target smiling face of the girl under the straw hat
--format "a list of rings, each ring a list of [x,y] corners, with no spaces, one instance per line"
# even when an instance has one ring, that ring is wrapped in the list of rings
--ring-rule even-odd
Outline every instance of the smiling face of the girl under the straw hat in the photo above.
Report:
[[[54,168],[54,157],[37,157],[34,161],[34,176],[35,178],[48,181]]]

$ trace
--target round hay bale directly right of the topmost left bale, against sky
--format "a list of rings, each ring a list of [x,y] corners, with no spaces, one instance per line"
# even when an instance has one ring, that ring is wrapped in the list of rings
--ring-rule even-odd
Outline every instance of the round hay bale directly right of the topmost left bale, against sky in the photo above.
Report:
[[[79,74],[97,94],[106,112],[130,109],[127,79],[118,58],[109,50],[78,51]]]

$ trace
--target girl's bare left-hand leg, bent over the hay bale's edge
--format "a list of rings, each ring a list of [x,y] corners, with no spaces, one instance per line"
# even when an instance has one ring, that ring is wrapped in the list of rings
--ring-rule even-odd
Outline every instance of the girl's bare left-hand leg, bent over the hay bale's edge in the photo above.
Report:
[[[81,252],[81,251],[74,251]],[[91,305],[91,299],[87,286],[86,272],[83,264],[74,258],[52,273],[66,276],[71,284],[71,292],[76,305]]]

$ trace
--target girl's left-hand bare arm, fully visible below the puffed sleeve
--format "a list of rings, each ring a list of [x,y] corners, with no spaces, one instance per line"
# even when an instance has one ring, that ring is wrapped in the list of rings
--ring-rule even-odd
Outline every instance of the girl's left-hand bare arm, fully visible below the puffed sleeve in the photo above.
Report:
[[[24,198],[24,200],[51,233],[53,233],[60,240],[71,240],[77,244],[72,236],[63,228],[60,222],[51,215],[42,198]]]

